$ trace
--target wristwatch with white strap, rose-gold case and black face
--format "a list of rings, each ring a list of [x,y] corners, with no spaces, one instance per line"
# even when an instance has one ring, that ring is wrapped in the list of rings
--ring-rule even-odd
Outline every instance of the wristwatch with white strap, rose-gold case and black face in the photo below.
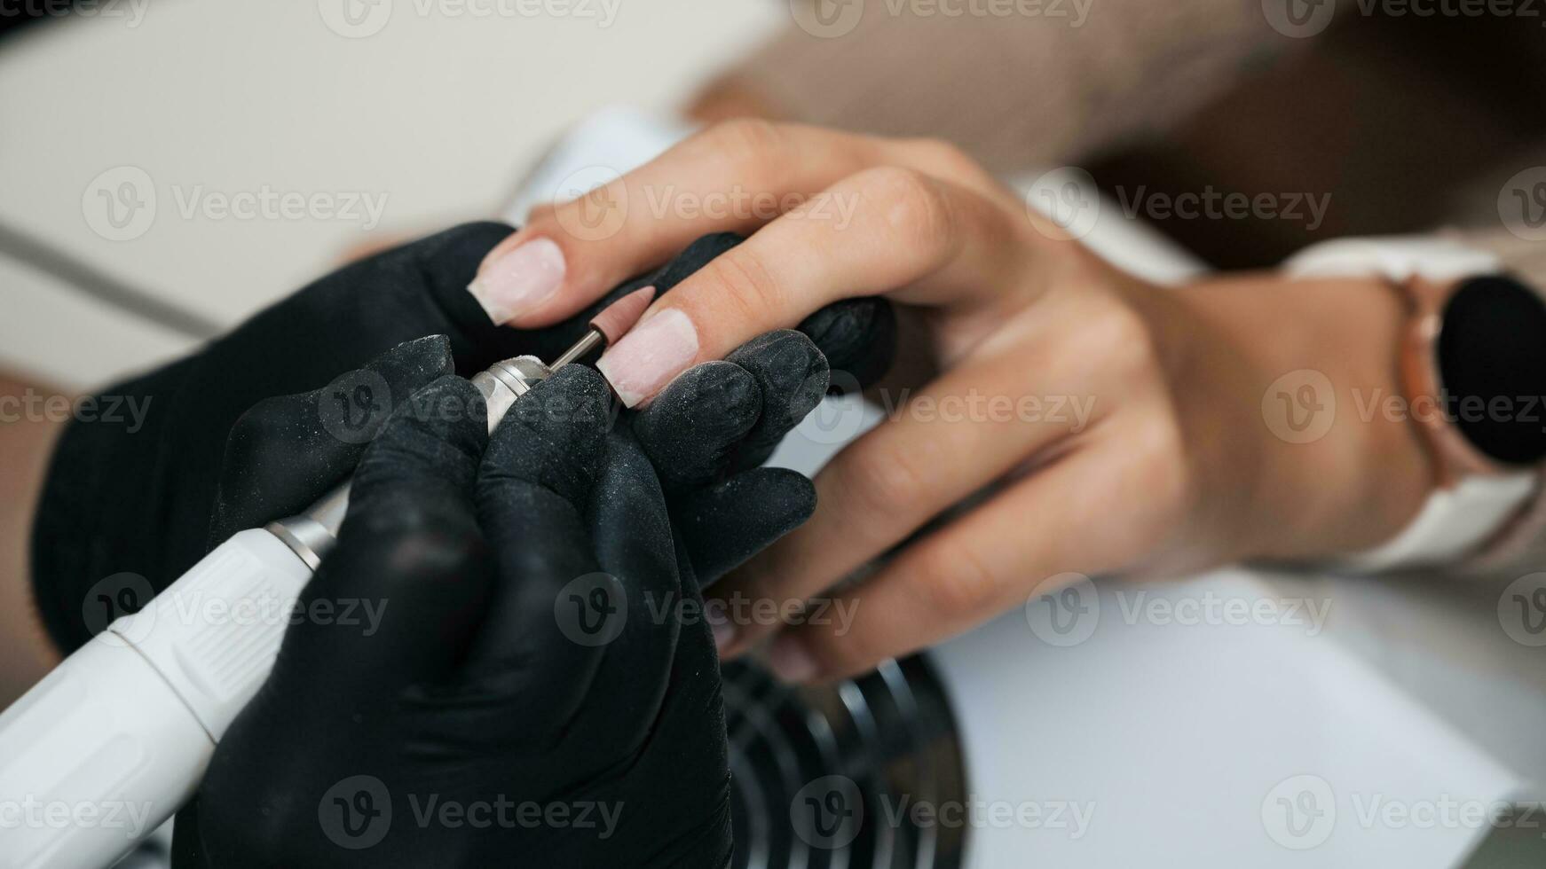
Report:
[[[1546,480],[1546,298],[1492,253],[1436,238],[1330,241],[1285,270],[1384,278],[1408,312],[1401,384],[1438,491],[1396,539],[1340,566],[1436,565],[1503,545]]]

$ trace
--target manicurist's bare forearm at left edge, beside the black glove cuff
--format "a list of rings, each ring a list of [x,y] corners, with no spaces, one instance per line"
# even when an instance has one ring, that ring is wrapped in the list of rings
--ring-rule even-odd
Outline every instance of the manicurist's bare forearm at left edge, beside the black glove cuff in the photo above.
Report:
[[[63,423],[25,412],[29,384],[0,377],[0,707],[34,682],[54,654],[32,602],[29,536],[48,455]]]

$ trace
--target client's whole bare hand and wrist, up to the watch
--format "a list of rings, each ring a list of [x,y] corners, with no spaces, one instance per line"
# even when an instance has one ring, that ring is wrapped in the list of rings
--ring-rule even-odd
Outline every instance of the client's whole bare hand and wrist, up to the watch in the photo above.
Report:
[[[629,207],[673,196],[753,207]],[[771,661],[788,679],[864,670],[1073,573],[1374,546],[1433,486],[1405,420],[1347,411],[1354,401],[1320,412],[1331,394],[1401,394],[1402,306],[1382,282],[1150,286],[943,142],[711,127],[533,213],[485,259],[479,286],[510,323],[540,327],[716,230],[750,238],[657,299],[598,363],[629,404],[659,401],[688,366],[856,295],[911,306],[918,333],[906,358],[934,363],[921,386],[883,397],[889,418],[822,469],[812,522],[713,590],[779,611],[835,596],[856,613],[847,631],[779,634]],[[509,273],[540,250],[558,278],[526,292]],[[972,508],[954,511],[963,502]],[[894,557],[844,582],[880,556]],[[773,630],[741,625],[725,651]]]

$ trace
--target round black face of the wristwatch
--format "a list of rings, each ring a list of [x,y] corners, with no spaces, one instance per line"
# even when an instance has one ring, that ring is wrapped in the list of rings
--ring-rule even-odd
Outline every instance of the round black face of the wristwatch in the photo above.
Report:
[[[1475,278],[1444,309],[1438,341],[1450,421],[1507,465],[1546,460],[1546,301],[1514,278]]]

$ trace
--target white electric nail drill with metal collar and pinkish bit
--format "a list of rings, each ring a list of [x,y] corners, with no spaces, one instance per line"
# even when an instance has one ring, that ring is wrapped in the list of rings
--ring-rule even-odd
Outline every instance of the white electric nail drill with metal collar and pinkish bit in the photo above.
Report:
[[[476,375],[489,431],[552,370],[626,332],[649,296],[603,312],[552,367],[516,357]],[[105,869],[193,796],[267,679],[348,499],[345,483],[300,516],[237,534],[0,715],[0,869]]]

